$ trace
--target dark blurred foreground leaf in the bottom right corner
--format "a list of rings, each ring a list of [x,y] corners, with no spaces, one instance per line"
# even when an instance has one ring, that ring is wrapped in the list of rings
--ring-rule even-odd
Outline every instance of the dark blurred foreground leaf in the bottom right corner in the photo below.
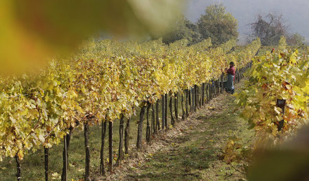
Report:
[[[309,127],[292,141],[256,154],[249,180],[309,180]]]

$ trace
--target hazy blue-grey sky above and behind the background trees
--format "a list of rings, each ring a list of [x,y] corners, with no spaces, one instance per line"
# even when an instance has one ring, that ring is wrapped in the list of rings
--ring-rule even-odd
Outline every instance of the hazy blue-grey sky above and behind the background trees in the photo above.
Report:
[[[277,12],[289,26],[288,31],[299,33],[309,40],[309,0],[187,0],[185,16],[193,22],[205,12],[211,3],[223,3],[227,12],[238,20],[240,34],[249,34],[249,23],[256,14]]]

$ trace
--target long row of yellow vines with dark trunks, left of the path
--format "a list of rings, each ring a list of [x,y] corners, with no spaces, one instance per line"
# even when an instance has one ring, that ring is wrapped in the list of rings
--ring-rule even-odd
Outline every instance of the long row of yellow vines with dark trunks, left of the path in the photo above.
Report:
[[[44,147],[45,180],[48,180],[49,148],[63,141],[62,180],[67,180],[70,138],[73,130],[84,130],[85,180],[90,180],[89,126],[102,126],[100,173],[105,174],[104,140],[108,124],[109,171],[113,170],[113,121],[119,120],[119,154],[123,144],[128,152],[127,137],[130,118],[140,108],[137,144],[142,146],[144,114],[146,141],[151,134],[168,129],[168,95],[171,123],[178,120],[178,100],[181,98],[182,118],[188,116],[205,100],[222,91],[224,69],[236,63],[238,77],[260,48],[260,40],[231,51],[236,40],[209,48],[211,40],[187,46],[187,40],[164,45],[161,40],[148,42],[89,40],[69,58],[54,58],[39,73],[27,73],[0,80],[0,159],[14,157],[17,180],[21,180],[20,160],[26,154]],[[206,88],[205,88],[206,85]],[[202,93],[198,93],[199,87]],[[206,90],[209,90],[208,92]],[[205,93],[207,92],[207,96]],[[200,97],[198,97],[200,95]],[[175,118],[172,99],[175,102]],[[185,103],[183,103],[185,99]],[[162,114],[159,122],[158,105]],[[188,108],[188,105],[190,108]],[[156,107],[156,108],[155,108]],[[148,111],[152,108],[152,120]],[[124,119],[127,120],[124,129]],[[125,135],[124,135],[125,132]],[[124,138],[125,136],[125,138]],[[125,143],[124,143],[125,142]]]

